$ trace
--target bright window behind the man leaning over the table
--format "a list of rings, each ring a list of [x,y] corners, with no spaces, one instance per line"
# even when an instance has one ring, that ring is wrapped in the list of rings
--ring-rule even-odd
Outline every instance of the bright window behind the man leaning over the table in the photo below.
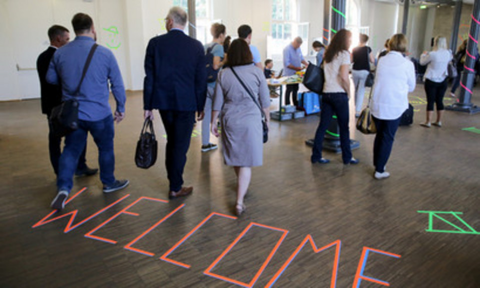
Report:
[[[291,40],[300,36],[303,40],[301,51],[308,52],[309,23],[298,22],[297,0],[271,0],[271,29],[267,38],[267,56],[281,55]]]

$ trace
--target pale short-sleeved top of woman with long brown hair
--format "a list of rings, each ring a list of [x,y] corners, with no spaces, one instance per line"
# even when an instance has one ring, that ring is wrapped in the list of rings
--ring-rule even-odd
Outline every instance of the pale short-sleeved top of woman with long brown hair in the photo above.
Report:
[[[323,61],[323,71],[325,72],[323,93],[346,92],[340,85],[341,65],[350,65],[350,53],[346,50],[339,52],[329,63]]]

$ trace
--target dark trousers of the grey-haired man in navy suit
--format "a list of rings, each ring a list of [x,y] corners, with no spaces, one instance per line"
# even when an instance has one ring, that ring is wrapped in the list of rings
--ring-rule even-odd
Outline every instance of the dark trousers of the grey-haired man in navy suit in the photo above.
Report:
[[[165,166],[169,188],[176,192],[183,185],[183,168],[190,146],[195,112],[162,110],[160,116],[166,131]]]

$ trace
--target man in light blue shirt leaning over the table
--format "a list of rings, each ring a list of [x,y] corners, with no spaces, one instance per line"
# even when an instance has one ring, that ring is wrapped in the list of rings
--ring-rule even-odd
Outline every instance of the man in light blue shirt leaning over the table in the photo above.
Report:
[[[301,64],[308,66],[308,63],[301,54],[302,39],[296,37],[283,49],[283,73],[285,76],[294,75],[297,71],[303,69]],[[298,84],[287,84],[285,90],[285,105],[290,104],[290,94],[293,97],[293,105],[298,106]]]

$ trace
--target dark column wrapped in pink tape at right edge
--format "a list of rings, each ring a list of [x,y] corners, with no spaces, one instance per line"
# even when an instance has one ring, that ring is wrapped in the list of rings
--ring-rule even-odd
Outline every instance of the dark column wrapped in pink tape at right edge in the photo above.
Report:
[[[467,56],[461,73],[461,90],[459,101],[446,107],[447,110],[460,112],[478,113],[480,107],[471,103],[471,93],[473,81],[475,79],[475,61],[477,57],[478,32],[480,31],[480,0],[475,0],[473,10],[470,15],[470,32],[468,35],[468,44],[466,48]]]

